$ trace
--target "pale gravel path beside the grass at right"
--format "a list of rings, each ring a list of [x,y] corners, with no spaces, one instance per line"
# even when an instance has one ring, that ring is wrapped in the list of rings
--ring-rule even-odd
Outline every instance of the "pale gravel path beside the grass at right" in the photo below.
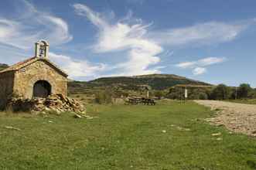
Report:
[[[224,125],[230,131],[256,136],[256,105],[236,104],[217,100],[195,100],[197,104],[217,110],[217,117],[207,119]]]

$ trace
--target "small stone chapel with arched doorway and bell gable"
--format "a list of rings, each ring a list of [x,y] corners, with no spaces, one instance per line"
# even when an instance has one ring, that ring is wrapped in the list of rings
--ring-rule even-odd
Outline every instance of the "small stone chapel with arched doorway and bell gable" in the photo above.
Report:
[[[0,109],[10,97],[67,96],[67,73],[49,60],[49,43],[36,42],[35,56],[0,71]]]

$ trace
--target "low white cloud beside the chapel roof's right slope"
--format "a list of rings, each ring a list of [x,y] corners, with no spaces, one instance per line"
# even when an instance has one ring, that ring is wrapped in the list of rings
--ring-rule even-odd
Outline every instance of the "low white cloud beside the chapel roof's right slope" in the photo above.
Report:
[[[106,69],[106,65],[102,63],[90,63],[85,59],[73,59],[70,56],[49,53],[49,57],[54,63],[61,66],[70,78],[92,77],[98,76],[98,73]]]

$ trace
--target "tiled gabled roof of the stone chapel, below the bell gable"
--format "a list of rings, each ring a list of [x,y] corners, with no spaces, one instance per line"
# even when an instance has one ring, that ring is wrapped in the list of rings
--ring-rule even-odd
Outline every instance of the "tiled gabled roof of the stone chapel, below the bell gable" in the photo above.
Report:
[[[24,61],[22,61],[22,62],[15,63],[14,65],[9,66],[9,67],[6,68],[5,70],[0,71],[0,73],[6,73],[6,72],[9,72],[9,71],[17,71],[17,70],[20,70],[20,69],[22,69],[23,67],[26,67],[26,66],[28,66],[29,64],[35,63],[36,61],[39,61],[39,60],[43,60],[43,61],[45,61],[46,63],[49,63],[49,64],[52,65],[56,70],[58,70],[60,73],[62,73],[64,76],[68,76],[65,71],[61,70],[60,67],[56,66],[56,64],[54,64],[54,63],[52,63],[51,61],[49,61],[49,59],[39,58],[39,57],[35,57],[35,56],[32,57],[32,58],[26,59],[26,60],[24,60]]]

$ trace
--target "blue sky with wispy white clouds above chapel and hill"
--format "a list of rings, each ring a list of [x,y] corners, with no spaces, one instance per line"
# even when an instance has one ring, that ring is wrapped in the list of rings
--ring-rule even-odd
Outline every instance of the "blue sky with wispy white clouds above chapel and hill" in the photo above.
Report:
[[[75,80],[172,73],[256,87],[254,0],[2,0],[0,63],[50,59]]]

